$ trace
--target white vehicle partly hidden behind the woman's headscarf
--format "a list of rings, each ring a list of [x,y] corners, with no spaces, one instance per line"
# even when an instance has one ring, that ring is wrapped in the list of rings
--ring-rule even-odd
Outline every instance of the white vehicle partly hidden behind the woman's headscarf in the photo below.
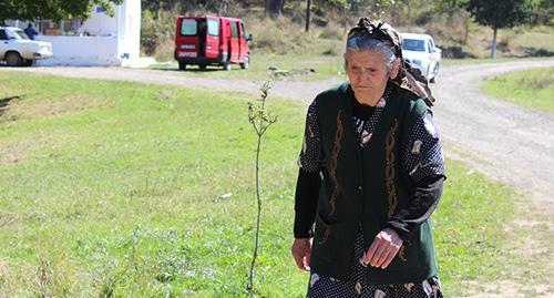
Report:
[[[434,45],[434,40],[429,34],[401,33],[402,55],[412,66],[421,70],[421,73],[431,83],[437,82],[439,65],[441,62],[441,49]]]

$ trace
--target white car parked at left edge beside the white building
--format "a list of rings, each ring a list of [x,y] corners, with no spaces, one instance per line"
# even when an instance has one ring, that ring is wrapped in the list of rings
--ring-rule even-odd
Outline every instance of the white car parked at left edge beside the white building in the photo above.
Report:
[[[0,61],[9,66],[30,66],[38,59],[52,56],[52,43],[30,40],[23,30],[0,27]]]

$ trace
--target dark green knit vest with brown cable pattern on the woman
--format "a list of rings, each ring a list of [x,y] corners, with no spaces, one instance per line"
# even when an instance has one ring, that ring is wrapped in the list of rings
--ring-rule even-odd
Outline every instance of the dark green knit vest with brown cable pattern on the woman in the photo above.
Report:
[[[360,223],[367,249],[389,216],[404,207],[414,192],[402,166],[403,150],[416,120],[429,107],[414,94],[391,88],[363,150],[355,140],[350,84],[316,97],[325,171],[310,266],[320,275],[347,280]],[[400,251],[387,269],[368,267],[371,284],[419,282],[437,275],[430,219]]]

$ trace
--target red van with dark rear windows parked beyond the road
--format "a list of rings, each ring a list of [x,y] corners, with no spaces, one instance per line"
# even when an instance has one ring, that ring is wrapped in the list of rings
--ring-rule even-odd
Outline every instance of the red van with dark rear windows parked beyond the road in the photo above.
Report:
[[[220,65],[230,70],[230,63],[248,69],[250,50],[240,19],[206,17],[177,18],[175,30],[175,60],[181,70],[186,65]]]

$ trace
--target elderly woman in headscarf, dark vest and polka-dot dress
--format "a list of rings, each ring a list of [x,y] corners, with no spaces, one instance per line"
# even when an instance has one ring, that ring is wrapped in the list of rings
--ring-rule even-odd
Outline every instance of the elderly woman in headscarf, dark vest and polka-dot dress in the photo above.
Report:
[[[430,216],[445,173],[433,99],[402,63],[391,27],[361,19],[346,48],[349,81],[308,109],[293,257],[310,270],[308,297],[442,297]]]

